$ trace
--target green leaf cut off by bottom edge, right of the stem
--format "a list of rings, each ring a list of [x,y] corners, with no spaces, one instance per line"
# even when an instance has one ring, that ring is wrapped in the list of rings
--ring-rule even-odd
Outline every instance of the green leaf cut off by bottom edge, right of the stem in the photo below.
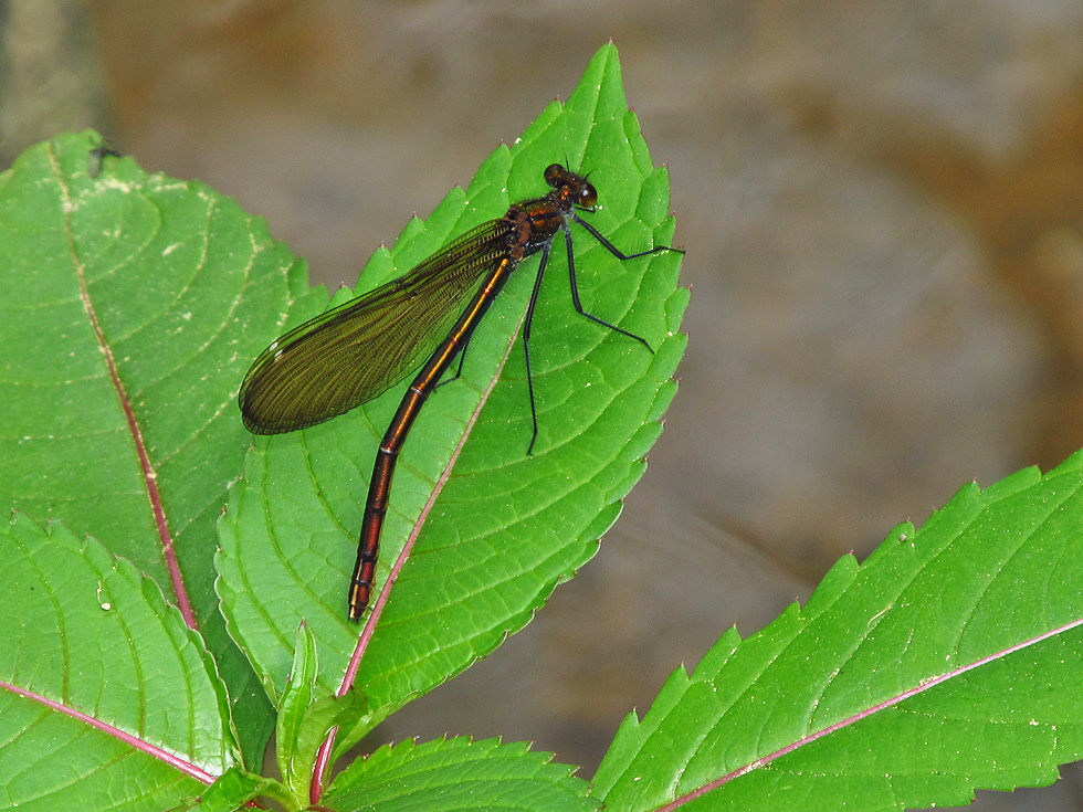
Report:
[[[572,768],[526,745],[465,738],[381,747],[339,773],[320,801],[360,812],[599,809]]]

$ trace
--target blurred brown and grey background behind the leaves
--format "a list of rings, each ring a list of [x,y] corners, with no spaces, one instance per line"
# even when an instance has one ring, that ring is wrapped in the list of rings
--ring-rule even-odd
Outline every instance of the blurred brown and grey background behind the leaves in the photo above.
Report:
[[[389,739],[527,739],[589,778],[725,629],[1083,444],[1075,0],[10,0],[0,23],[6,161],[96,126],[332,286],[620,49],[688,250],[681,393],[598,558]],[[1064,774],[975,809],[1083,809]]]

